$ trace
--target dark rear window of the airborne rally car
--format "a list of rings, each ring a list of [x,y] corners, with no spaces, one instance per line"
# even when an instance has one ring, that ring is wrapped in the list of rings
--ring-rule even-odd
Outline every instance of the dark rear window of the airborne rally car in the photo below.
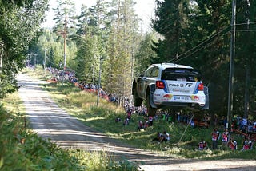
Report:
[[[200,82],[201,74],[194,69],[186,68],[166,68],[162,71],[162,80]]]

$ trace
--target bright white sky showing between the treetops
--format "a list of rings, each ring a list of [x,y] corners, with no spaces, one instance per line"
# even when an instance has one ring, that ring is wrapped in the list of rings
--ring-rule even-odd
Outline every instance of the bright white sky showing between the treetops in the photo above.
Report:
[[[96,4],[97,0],[73,0],[78,14],[82,4],[90,7]],[[154,0],[134,0],[136,2],[135,12],[139,18],[142,18],[143,31],[150,30],[150,19],[154,17]],[[46,22],[42,23],[42,27],[51,28],[54,26],[54,10],[57,7],[57,0],[50,0],[49,11],[47,12]]]

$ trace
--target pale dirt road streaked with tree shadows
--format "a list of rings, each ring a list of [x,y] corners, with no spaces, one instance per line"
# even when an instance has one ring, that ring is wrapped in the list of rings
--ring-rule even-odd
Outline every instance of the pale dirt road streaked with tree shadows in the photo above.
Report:
[[[71,117],[59,108],[42,90],[46,82],[31,78],[26,74],[18,75],[19,96],[26,107],[30,126],[38,136],[50,138],[65,148],[104,150],[113,156],[124,156],[130,161],[144,161],[141,170],[256,170],[256,161],[229,159],[222,161],[181,160],[160,156],[142,149],[122,145],[113,137],[107,137]]]

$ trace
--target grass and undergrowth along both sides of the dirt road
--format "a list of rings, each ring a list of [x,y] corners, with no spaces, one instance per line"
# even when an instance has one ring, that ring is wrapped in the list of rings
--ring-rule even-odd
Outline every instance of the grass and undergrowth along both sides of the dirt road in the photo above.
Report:
[[[26,71],[30,74],[30,71]],[[44,72],[43,72],[44,73]],[[39,74],[35,74],[39,75]],[[43,76],[42,76],[43,75]],[[42,78],[49,75],[42,74]],[[199,151],[198,142],[203,138],[211,145],[212,129],[190,128],[176,122],[154,121],[154,125],[138,131],[137,122],[145,118],[134,114],[129,125],[122,121],[126,113],[122,106],[114,105],[97,96],[86,93],[70,83],[43,85],[54,101],[85,125],[115,137],[124,144],[147,149],[175,158],[198,158],[218,160],[242,158],[255,160],[255,148],[242,151],[243,137],[232,135],[238,141],[238,150],[219,149]],[[27,128],[25,109],[17,94],[12,94],[0,102],[0,170],[136,170],[137,164],[123,159],[114,161],[105,152],[88,152],[83,150],[61,149],[50,140],[42,140]],[[121,122],[115,119],[121,118]],[[158,131],[170,133],[170,141],[158,144],[151,141]],[[222,128],[219,128],[222,131]]]

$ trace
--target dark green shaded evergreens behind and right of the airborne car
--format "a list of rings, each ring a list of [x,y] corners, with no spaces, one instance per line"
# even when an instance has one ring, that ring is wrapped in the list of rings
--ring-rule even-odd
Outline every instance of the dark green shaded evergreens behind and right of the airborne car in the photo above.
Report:
[[[176,62],[202,71],[209,86],[210,110],[227,113],[230,65],[230,20],[232,1],[156,1],[153,27],[162,35],[154,42],[159,58],[153,62]],[[234,114],[254,115],[254,23],[255,2],[238,1],[234,57]],[[246,102],[245,102],[246,101]],[[224,105],[223,105],[224,104]],[[250,108],[248,107],[250,106]],[[218,111],[218,112],[216,112]]]

